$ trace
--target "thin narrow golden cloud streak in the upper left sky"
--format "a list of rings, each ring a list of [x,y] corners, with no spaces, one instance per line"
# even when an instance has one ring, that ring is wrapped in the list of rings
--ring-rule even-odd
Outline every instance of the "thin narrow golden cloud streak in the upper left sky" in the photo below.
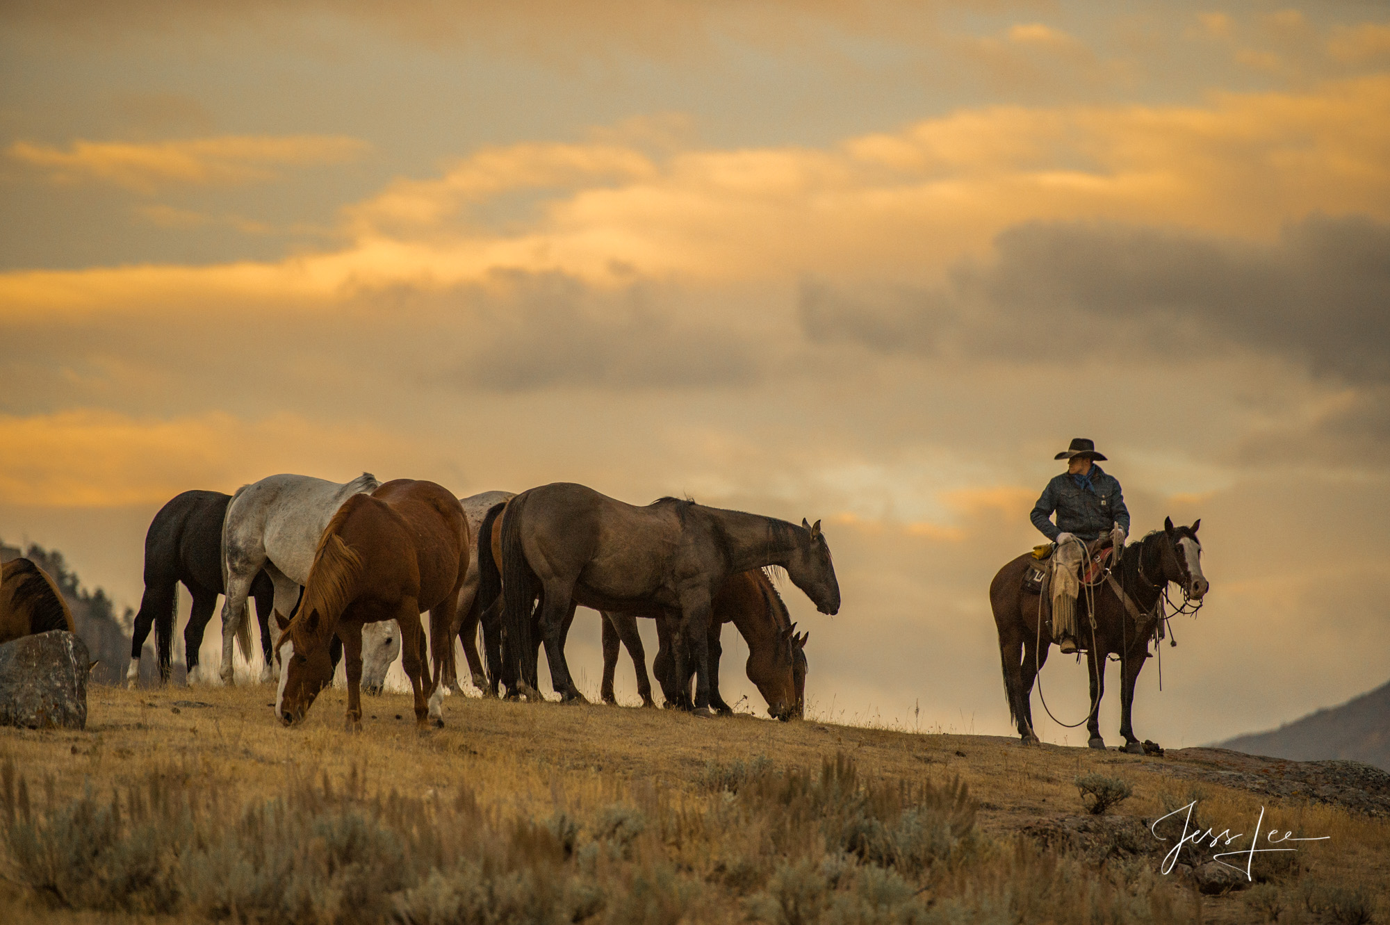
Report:
[[[15,142],[7,154],[61,183],[104,182],[140,193],[161,185],[247,183],[275,176],[272,167],[342,164],[370,146],[335,135],[195,138],[136,144],[76,140],[68,150]]]

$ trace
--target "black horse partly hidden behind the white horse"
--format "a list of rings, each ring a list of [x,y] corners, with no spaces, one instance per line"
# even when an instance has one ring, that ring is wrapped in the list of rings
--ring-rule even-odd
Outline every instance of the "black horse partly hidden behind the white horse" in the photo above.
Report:
[[[160,668],[160,682],[168,683],[174,619],[178,607],[179,582],[193,596],[193,604],[183,629],[183,661],[192,681],[197,672],[199,649],[207,621],[217,608],[217,596],[222,593],[222,521],[231,494],[221,492],[183,492],[160,508],[145,533],[145,594],[140,597],[140,612],[135,615],[131,633],[131,667],[125,672],[126,682],[133,688],[140,679],[140,651],[154,626],[154,656]],[[260,621],[261,654],[265,668],[261,681],[270,681],[271,639],[270,611],[275,597],[275,586],[270,575],[256,572],[250,588],[256,599],[256,617]],[[242,654],[250,657],[250,626],[243,621],[238,633]]]

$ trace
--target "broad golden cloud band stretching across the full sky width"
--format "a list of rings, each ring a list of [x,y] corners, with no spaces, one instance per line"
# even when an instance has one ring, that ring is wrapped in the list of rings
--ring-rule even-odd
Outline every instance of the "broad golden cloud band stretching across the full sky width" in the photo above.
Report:
[[[506,221],[470,210],[524,190]],[[498,210],[493,210],[498,211]],[[353,243],[278,264],[0,275],[0,317],[238,300],[331,306],[499,269],[591,286],[798,275],[923,278],[1029,221],[1108,219],[1269,239],[1323,211],[1390,218],[1390,75],[1207,106],[990,107],[827,149],[614,143],[485,149],[346,210]]]

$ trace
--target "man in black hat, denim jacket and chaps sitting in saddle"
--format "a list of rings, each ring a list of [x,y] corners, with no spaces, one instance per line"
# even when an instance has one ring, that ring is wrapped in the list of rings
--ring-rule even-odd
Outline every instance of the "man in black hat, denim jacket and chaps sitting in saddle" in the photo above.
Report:
[[[1052,635],[1066,653],[1077,649],[1076,599],[1081,585],[1077,576],[1087,556],[1086,544],[1108,536],[1116,550],[1123,549],[1129,536],[1129,510],[1120,493],[1120,483],[1104,472],[1097,461],[1105,457],[1095,451],[1095,443],[1076,438],[1072,446],[1056,454],[1066,460],[1066,472],[1056,475],[1033,507],[1033,525],[1056,543],[1052,554]],[[1056,512],[1056,524],[1049,518]]]

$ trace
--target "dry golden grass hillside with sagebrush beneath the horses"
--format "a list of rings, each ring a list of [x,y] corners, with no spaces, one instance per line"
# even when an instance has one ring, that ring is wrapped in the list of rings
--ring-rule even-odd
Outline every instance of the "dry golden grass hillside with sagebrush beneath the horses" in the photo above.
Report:
[[[0,729],[0,919],[1390,921],[1390,794],[1348,810],[1209,750],[457,697],[417,732],[400,694],[349,735],[342,690],[295,729],[271,700],[93,686],[83,732]],[[1088,774],[1133,794],[1088,814]],[[1204,828],[1265,807],[1264,832],[1329,839],[1202,894],[1188,862],[1248,839],[1162,874],[1148,825],[1194,799]]]

